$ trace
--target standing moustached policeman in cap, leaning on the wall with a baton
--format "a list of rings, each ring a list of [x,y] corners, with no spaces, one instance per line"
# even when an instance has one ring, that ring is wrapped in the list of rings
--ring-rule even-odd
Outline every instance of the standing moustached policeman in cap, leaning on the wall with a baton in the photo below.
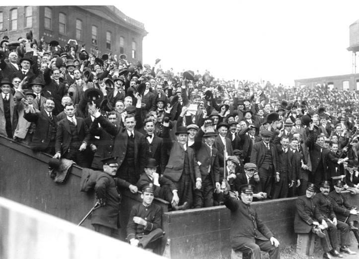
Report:
[[[117,157],[106,157],[101,160],[103,163],[103,173],[96,179],[95,196],[100,207],[91,214],[91,224],[96,232],[119,238],[119,211],[121,194],[118,187],[129,188],[132,193],[137,193],[136,186],[115,177],[118,163]]]

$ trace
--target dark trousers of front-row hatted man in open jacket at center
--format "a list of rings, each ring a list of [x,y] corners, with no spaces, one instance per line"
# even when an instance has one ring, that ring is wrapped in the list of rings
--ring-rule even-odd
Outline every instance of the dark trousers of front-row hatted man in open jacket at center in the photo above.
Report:
[[[206,178],[202,178],[201,190],[195,190],[193,206],[195,208],[212,207],[214,187],[210,174]]]

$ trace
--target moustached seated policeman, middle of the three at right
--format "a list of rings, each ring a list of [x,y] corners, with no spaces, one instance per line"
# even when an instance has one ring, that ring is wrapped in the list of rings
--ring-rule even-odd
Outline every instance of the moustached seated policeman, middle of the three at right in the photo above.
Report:
[[[337,220],[337,216],[333,210],[333,204],[331,197],[329,196],[330,183],[323,181],[320,184],[320,193],[315,194],[313,198],[314,205],[319,209],[319,213],[316,214],[316,219],[320,223],[328,228],[330,240],[332,243],[333,250],[330,253],[335,256],[342,258],[338,251],[346,254],[352,254],[353,252],[349,249],[349,226]],[[338,240],[338,231],[340,232],[340,244]]]

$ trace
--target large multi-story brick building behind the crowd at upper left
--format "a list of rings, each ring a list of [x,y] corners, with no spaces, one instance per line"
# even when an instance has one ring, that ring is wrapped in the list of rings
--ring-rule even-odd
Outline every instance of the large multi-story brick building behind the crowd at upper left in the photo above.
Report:
[[[64,46],[77,40],[86,50],[100,54],[126,54],[129,61],[142,61],[144,24],[126,16],[115,6],[0,6],[0,39],[25,37],[32,30],[34,39],[44,36]]]

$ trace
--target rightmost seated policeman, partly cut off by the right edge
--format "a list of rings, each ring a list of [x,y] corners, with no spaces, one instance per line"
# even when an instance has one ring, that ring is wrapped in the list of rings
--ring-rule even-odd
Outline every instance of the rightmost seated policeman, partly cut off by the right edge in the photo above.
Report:
[[[334,185],[334,191],[329,193],[333,201],[333,210],[338,220],[343,221],[349,225],[350,230],[353,231],[359,244],[359,231],[354,222],[358,224],[358,208],[349,203],[346,196],[342,194],[345,182],[339,180]]]

